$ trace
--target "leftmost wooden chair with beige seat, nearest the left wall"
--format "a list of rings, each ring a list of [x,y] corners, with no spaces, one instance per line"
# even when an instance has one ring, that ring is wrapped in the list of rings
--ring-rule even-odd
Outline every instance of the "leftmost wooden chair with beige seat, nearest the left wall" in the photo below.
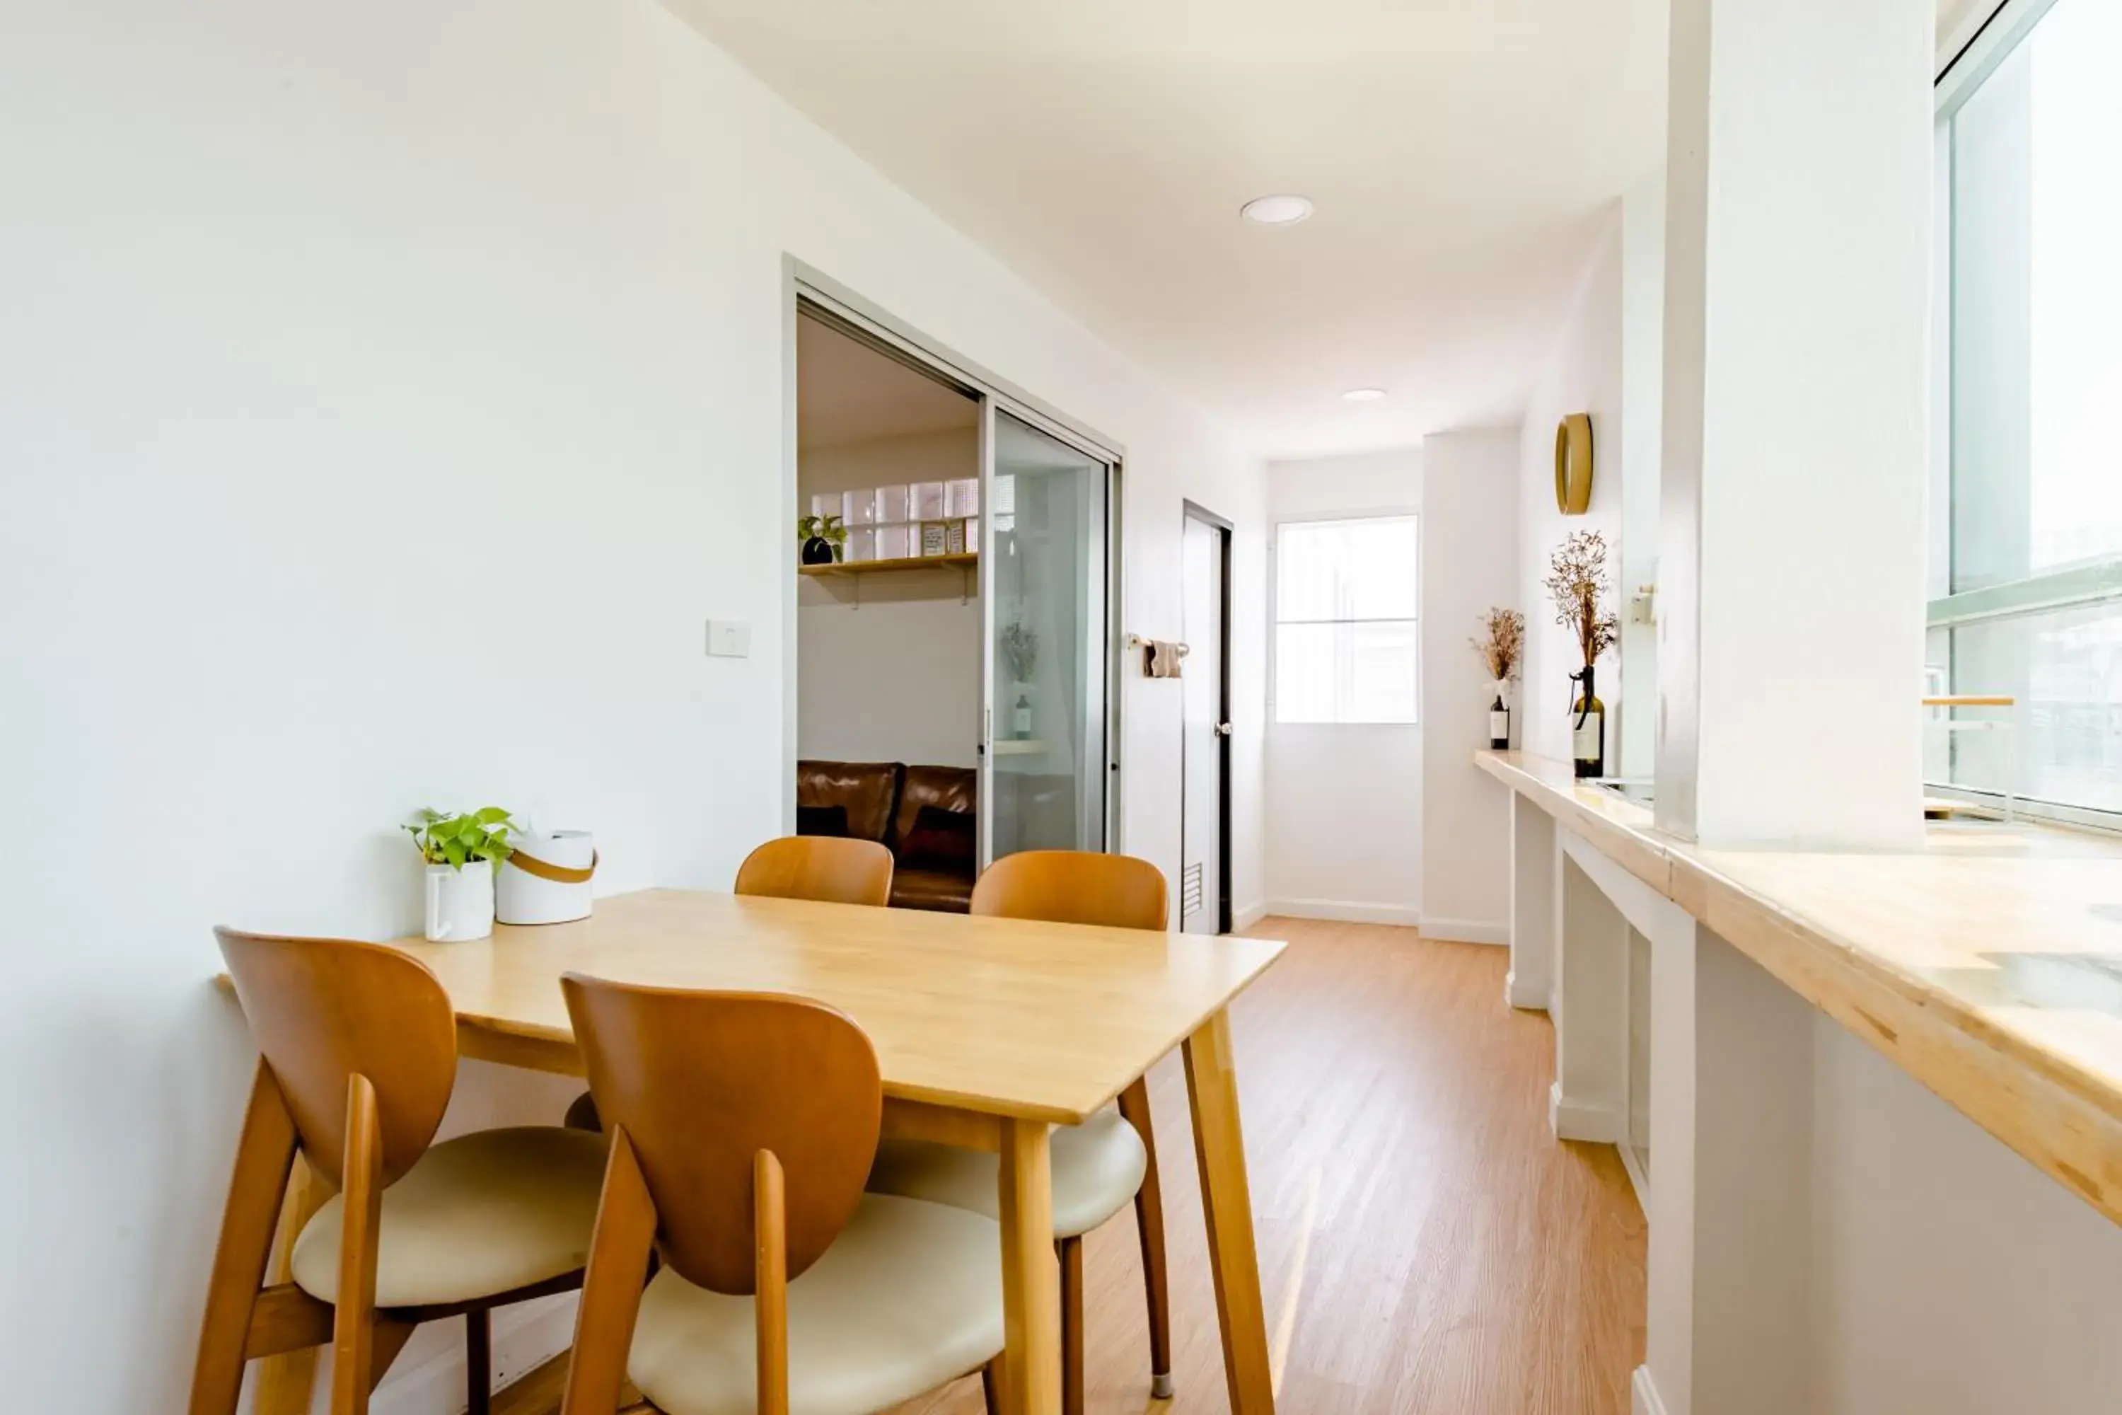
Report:
[[[259,1044],[206,1290],[191,1415],[233,1415],[244,1362],[333,1347],[331,1411],[363,1415],[422,1322],[465,1317],[469,1409],[492,1390],[488,1313],[581,1286],[605,1143],[554,1126],[433,1143],[456,1016],[393,948],[216,929]],[[265,1283],[297,1152],[335,1192]]]

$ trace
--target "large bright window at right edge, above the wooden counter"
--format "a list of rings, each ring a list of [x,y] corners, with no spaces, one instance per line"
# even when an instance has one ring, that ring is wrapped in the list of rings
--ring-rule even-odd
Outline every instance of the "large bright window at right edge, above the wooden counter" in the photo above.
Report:
[[[1927,776],[2122,810],[2122,4],[2012,0],[1940,83]],[[1944,503],[1940,509],[1937,503]]]

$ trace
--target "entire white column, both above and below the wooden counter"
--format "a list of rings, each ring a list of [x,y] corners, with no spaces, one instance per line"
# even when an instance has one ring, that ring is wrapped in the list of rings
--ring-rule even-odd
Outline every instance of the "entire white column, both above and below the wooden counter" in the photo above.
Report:
[[[1923,834],[1933,23],[1672,0],[1657,823],[1706,844]],[[1687,1084],[1651,1086],[1638,1407],[1819,1409],[1831,1025],[1706,929],[1651,1006],[1653,1076]]]

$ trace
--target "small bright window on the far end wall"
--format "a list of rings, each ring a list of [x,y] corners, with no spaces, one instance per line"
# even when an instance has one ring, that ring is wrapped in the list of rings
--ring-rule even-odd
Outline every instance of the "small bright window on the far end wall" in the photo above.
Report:
[[[1275,721],[1415,721],[1415,518],[1275,530]]]

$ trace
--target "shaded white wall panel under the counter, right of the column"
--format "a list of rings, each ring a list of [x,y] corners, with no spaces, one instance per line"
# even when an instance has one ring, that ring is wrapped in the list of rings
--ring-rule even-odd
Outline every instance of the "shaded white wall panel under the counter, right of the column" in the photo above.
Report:
[[[1814,1016],[1821,1415],[2111,1411],[2122,1228]]]

